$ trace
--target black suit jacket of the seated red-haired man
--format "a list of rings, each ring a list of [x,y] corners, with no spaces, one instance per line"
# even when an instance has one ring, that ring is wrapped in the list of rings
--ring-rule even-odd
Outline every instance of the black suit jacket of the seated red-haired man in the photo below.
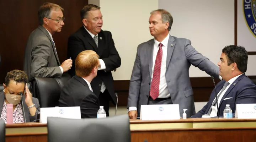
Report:
[[[59,107],[80,107],[81,118],[97,118],[100,102],[86,81],[75,75],[62,88]]]

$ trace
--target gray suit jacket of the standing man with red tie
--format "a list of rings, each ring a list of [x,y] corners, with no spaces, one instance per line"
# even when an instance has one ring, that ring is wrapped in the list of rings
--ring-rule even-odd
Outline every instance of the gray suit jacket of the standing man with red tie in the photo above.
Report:
[[[173,46],[171,47],[171,44]],[[154,39],[138,46],[137,55],[130,79],[128,108],[137,107],[138,116],[140,105],[148,104],[151,74],[153,67]],[[198,67],[209,75],[219,77],[219,68],[208,58],[198,53],[185,38],[169,37],[166,59],[166,83],[172,102],[179,104],[180,116],[183,109],[189,118],[195,114],[193,90],[188,70],[191,66]]]

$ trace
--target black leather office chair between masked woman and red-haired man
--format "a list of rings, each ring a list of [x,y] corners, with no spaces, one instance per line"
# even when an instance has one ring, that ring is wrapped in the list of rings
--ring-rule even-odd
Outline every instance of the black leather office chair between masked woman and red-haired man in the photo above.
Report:
[[[41,108],[59,106],[59,97],[62,87],[70,79],[70,75],[64,73],[61,78],[35,77],[33,82],[33,97],[38,98]]]

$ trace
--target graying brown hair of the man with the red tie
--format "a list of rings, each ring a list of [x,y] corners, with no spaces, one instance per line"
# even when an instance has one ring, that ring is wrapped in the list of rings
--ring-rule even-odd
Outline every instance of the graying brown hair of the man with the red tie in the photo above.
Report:
[[[162,16],[162,22],[165,23],[165,22],[169,22],[169,27],[168,27],[168,31],[171,30],[171,26],[172,26],[172,23],[173,23],[173,18],[170,14],[170,12],[164,10],[164,9],[158,9],[158,10],[154,10],[152,12],[150,12],[150,14],[155,14],[155,13],[161,13],[161,16]]]

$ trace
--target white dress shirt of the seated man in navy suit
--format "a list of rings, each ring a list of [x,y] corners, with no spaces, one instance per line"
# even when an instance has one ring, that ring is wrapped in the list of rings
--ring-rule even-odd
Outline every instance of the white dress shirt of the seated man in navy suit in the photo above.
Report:
[[[242,74],[244,74],[244,73],[242,73]],[[241,74],[241,75],[242,75]],[[225,88],[225,90],[220,94],[220,97],[219,97],[219,99],[218,99],[218,107],[219,107],[219,105],[220,105],[220,100],[222,100],[222,97],[223,97],[223,95],[226,93],[226,91],[228,90],[228,88],[230,87],[230,85],[233,85],[233,82],[239,77],[240,75],[238,75],[238,76],[235,76],[235,77],[233,77],[233,78],[231,78],[228,82],[229,82],[229,85]],[[220,92],[221,92],[221,90],[220,90]],[[220,93],[219,92],[219,93]],[[219,95],[219,93],[217,94],[217,96]],[[216,99],[216,97],[215,97],[215,99]],[[215,100],[214,99],[214,100]],[[213,102],[214,102],[214,100],[213,100]],[[213,103],[212,102],[212,103]],[[217,103],[214,105],[214,106],[212,106],[212,111],[211,111],[211,113],[210,113],[210,117],[215,117],[215,116],[217,116]]]

